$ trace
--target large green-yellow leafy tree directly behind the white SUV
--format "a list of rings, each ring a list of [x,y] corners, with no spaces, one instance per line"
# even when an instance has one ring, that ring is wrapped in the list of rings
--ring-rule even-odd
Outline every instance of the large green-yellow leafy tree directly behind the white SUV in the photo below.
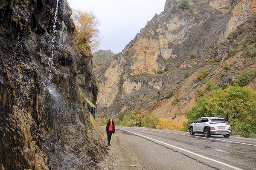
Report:
[[[198,105],[186,113],[188,125],[203,116],[226,118],[233,134],[256,137],[256,93],[249,87],[228,86],[218,88],[198,99]]]

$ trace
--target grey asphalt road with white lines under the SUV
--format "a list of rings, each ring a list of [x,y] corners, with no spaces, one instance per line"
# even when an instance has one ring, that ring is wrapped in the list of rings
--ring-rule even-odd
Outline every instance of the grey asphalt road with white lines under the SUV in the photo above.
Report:
[[[256,170],[256,139],[116,127],[143,170]]]

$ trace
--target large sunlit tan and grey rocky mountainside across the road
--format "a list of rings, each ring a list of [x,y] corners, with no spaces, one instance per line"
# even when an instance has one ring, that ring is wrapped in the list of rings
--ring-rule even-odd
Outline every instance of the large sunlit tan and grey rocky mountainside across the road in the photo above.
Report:
[[[255,41],[241,45],[256,39],[255,0],[189,0],[185,8],[182,2],[166,0],[164,11],[97,73],[101,116],[145,108],[183,121],[207,80],[222,86],[255,69],[253,57],[245,55]],[[231,48],[236,55],[229,55]],[[255,88],[254,81],[249,85]]]

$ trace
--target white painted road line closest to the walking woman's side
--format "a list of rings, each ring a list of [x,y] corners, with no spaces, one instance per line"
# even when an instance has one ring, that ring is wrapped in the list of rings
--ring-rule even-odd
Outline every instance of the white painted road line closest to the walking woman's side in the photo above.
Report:
[[[122,129],[119,129],[119,130],[122,130]],[[211,158],[208,158],[208,157],[206,157],[206,156],[199,155],[199,154],[194,153],[194,152],[191,152],[191,151],[189,151],[189,150],[185,150],[185,149],[182,149],[182,148],[180,148],[180,147],[173,146],[173,145],[171,145],[171,144],[167,144],[167,143],[158,141],[158,140],[156,140],[156,139],[153,139],[153,138],[149,138],[149,137],[147,137],[147,136],[140,135],[140,134],[138,134],[138,133],[134,133],[134,132],[131,132],[131,131],[128,131],[128,130],[123,130],[123,131],[128,132],[128,133],[132,133],[132,134],[137,135],[137,136],[141,136],[141,137],[146,138],[146,139],[150,139],[150,140],[152,140],[152,141],[155,141],[155,142],[158,142],[158,143],[161,143],[161,144],[166,144],[166,145],[168,145],[168,146],[170,146],[170,147],[174,147],[174,148],[179,149],[179,150],[182,150],[182,151],[184,151],[184,152],[191,153],[191,154],[193,154],[193,155],[195,155],[195,156],[199,156],[199,157],[201,157],[201,158],[208,159],[208,160],[210,160],[210,161],[214,161],[214,162],[216,162],[216,163],[225,165],[225,166],[230,167],[230,168],[233,168],[233,169],[235,169],[235,170],[242,170],[242,169],[240,169],[240,168],[238,168],[238,167],[233,167],[232,165],[225,164],[225,163],[223,163],[223,162],[221,162],[221,161],[217,161],[217,160],[215,160],[215,159],[211,159]]]

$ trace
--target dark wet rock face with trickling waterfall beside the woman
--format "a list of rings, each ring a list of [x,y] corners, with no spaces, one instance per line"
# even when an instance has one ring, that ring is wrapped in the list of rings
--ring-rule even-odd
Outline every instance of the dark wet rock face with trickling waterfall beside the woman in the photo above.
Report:
[[[0,0],[1,170],[97,169],[106,153],[90,113],[91,56],[73,50],[71,13],[63,0]]]

